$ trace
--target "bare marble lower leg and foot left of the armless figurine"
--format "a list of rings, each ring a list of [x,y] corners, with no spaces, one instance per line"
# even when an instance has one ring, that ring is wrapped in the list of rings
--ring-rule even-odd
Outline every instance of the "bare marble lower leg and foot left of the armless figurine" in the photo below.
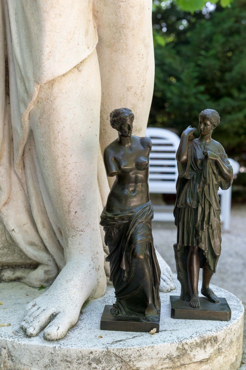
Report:
[[[62,338],[77,322],[85,300],[105,292],[96,181],[100,95],[93,51],[71,71],[42,85],[30,113],[66,265],[52,286],[27,305],[21,325],[29,336],[45,328],[45,339]]]

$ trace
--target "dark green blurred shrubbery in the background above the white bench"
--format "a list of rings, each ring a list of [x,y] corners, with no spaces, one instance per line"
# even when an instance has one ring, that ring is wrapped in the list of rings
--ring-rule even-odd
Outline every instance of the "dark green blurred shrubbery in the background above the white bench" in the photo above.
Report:
[[[244,164],[245,1],[235,0],[226,9],[218,3],[215,11],[208,8],[193,15],[171,1],[168,6],[154,3],[156,77],[149,124],[172,128],[180,135],[188,125],[198,126],[203,109],[215,109],[221,123],[213,138]]]

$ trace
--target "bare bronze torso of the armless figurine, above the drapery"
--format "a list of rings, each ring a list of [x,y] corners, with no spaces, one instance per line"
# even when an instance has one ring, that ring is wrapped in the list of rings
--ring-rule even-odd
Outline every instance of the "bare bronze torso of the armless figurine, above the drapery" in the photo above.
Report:
[[[120,137],[104,153],[108,176],[116,176],[106,205],[110,213],[125,212],[150,200],[148,164],[151,140],[133,135],[129,139],[127,142],[126,138]]]

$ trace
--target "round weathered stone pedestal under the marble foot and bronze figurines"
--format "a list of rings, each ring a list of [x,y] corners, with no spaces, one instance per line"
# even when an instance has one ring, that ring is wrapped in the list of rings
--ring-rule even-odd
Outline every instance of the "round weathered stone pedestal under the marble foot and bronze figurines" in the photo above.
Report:
[[[178,289],[171,295],[179,294]],[[47,342],[42,332],[27,337],[19,325],[27,302],[44,290],[22,283],[1,283],[0,369],[4,370],[237,370],[242,356],[243,306],[229,292],[213,287],[232,310],[229,322],[175,320],[168,293],[161,293],[160,333],[100,330],[104,306],[114,302],[113,289],[86,303],[66,337]]]

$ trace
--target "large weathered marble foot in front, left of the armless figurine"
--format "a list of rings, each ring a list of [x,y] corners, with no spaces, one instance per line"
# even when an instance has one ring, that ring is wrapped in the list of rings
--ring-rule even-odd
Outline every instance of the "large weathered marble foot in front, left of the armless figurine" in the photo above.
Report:
[[[83,263],[68,262],[52,286],[28,303],[20,326],[30,337],[44,329],[44,339],[61,339],[76,324],[85,300],[92,293],[102,296],[104,290],[105,281],[93,278],[89,264],[86,271]]]

